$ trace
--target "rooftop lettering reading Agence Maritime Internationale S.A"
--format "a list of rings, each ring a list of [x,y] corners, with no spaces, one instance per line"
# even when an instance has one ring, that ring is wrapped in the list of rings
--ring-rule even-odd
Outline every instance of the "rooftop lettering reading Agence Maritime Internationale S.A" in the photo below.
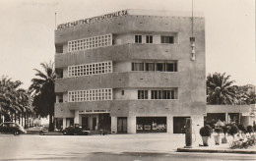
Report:
[[[111,19],[111,18],[115,18],[115,17],[122,17],[124,15],[128,15],[127,10],[117,11],[117,12],[114,12],[114,13],[105,14],[105,15],[102,15],[102,16],[94,17],[94,18],[79,20],[79,21],[76,21],[76,22],[61,24],[61,25],[58,25],[58,29],[67,28],[67,27],[81,26],[81,25],[95,23],[95,22],[98,22],[98,21]]]

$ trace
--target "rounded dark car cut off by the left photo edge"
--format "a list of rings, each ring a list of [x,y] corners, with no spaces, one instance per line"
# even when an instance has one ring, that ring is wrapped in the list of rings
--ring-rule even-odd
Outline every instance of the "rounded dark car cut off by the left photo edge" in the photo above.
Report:
[[[26,134],[27,132],[24,130],[24,128],[17,123],[13,122],[5,122],[0,125],[0,133],[2,134]]]

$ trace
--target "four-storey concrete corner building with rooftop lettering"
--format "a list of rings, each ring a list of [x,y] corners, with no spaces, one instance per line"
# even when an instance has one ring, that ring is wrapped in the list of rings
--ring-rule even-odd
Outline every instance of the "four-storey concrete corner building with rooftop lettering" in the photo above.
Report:
[[[55,47],[57,126],[179,134],[186,118],[204,125],[203,17],[118,11],[59,25]]]

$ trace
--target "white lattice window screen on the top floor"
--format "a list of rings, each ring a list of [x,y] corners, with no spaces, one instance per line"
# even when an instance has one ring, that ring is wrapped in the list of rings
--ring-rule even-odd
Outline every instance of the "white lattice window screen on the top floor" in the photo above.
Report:
[[[68,41],[68,51],[79,51],[112,45],[112,34],[98,35],[84,39]]]

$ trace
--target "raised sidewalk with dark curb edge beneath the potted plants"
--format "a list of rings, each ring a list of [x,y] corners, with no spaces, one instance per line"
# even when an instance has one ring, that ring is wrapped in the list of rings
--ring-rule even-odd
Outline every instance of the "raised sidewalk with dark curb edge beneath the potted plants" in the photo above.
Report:
[[[209,146],[199,146],[199,143],[194,143],[192,148],[180,147],[177,148],[178,152],[203,152],[203,153],[240,153],[240,154],[256,154],[256,145],[249,146],[248,148],[235,148],[231,149],[228,143],[221,143],[216,145],[213,137],[209,140]]]

